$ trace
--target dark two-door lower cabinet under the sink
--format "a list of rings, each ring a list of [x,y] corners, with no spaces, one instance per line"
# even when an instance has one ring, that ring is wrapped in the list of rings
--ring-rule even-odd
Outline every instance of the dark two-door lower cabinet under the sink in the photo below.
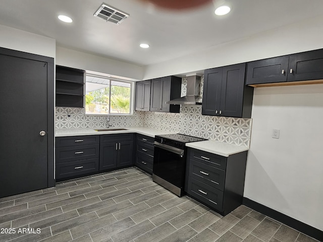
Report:
[[[99,170],[133,165],[133,136],[134,134],[101,135]]]

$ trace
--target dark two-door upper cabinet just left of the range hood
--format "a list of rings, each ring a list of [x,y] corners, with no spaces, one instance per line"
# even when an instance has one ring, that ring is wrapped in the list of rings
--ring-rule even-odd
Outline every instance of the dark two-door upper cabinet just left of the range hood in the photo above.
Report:
[[[169,76],[151,80],[150,111],[180,112],[180,105],[166,104],[181,97],[182,78]]]

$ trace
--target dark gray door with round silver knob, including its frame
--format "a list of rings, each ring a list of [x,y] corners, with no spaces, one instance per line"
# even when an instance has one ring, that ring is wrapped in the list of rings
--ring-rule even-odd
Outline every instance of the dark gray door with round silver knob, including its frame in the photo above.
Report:
[[[30,54],[20,52],[24,58],[4,52],[11,51],[0,52],[0,197],[53,185],[53,167],[48,167],[53,160],[47,159],[48,144],[53,149],[53,141],[48,141],[48,132],[53,139],[53,127],[48,127],[48,111],[53,109],[48,110],[47,101],[52,73],[47,62],[30,59]]]

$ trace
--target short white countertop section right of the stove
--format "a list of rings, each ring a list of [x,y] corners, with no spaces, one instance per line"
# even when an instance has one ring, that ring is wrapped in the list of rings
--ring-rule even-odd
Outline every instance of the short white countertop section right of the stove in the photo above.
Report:
[[[240,153],[249,150],[247,147],[230,145],[226,143],[216,142],[212,140],[198,141],[192,143],[186,143],[187,147],[191,147],[198,150],[203,150],[217,155],[228,157],[236,153]]]

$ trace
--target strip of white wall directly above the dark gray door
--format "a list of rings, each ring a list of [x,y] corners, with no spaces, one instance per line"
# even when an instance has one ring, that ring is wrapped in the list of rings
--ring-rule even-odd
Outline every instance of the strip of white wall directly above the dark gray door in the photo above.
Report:
[[[0,47],[55,58],[56,40],[0,25]]]

